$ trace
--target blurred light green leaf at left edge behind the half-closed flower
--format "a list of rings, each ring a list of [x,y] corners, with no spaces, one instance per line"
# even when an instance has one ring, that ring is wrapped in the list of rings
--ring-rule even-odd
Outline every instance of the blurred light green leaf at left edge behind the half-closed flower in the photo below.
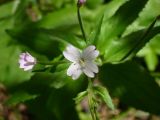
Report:
[[[3,46],[0,51],[0,82],[6,86],[13,86],[31,78],[31,72],[24,72],[19,68],[20,50],[17,46]]]

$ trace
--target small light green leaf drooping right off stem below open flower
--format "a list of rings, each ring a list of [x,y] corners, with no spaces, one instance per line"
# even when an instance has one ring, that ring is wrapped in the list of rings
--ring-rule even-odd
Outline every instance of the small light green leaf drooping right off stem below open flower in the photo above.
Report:
[[[106,105],[114,110],[114,104],[112,103],[112,99],[108,93],[108,90],[105,87],[102,86],[94,86],[93,87],[94,92],[101,97],[101,99],[106,103]]]

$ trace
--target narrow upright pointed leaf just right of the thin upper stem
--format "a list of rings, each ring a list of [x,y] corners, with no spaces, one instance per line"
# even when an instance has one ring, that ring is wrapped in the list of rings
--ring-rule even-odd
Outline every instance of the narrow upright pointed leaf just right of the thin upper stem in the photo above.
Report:
[[[100,17],[100,19],[98,20],[94,30],[91,32],[91,34],[88,38],[89,44],[94,44],[94,45],[97,44],[97,41],[99,39],[99,35],[100,35],[100,32],[101,32],[101,26],[102,26],[103,18],[104,18],[104,14],[102,15],[102,17]]]

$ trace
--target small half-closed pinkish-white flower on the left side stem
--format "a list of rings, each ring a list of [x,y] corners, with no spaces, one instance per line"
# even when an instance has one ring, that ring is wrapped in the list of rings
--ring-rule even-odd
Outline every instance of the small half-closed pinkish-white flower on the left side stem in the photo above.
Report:
[[[28,52],[21,53],[19,58],[20,68],[24,71],[31,70],[36,64],[36,59],[32,57]]]

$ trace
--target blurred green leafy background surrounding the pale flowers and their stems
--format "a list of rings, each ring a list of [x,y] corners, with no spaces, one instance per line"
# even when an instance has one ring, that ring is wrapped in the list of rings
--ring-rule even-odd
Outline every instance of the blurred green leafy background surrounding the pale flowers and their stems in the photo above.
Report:
[[[116,107],[122,112],[110,119],[123,119],[130,108],[160,114],[160,22],[144,32],[159,6],[159,0],[87,0],[81,9],[87,38],[101,53],[96,81],[120,101]],[[0,102],[16,114],[15,107],[24,103],[34,120],[88,119],[73,100],[87,88],[85,76],[71,80],[65,74],[69,64],[37,65],[34,72],[18,66],[24,51],[41,61],[60,61],[66,43],[85,46],[75,0],[1,0],[0,83],[9,97]]]

